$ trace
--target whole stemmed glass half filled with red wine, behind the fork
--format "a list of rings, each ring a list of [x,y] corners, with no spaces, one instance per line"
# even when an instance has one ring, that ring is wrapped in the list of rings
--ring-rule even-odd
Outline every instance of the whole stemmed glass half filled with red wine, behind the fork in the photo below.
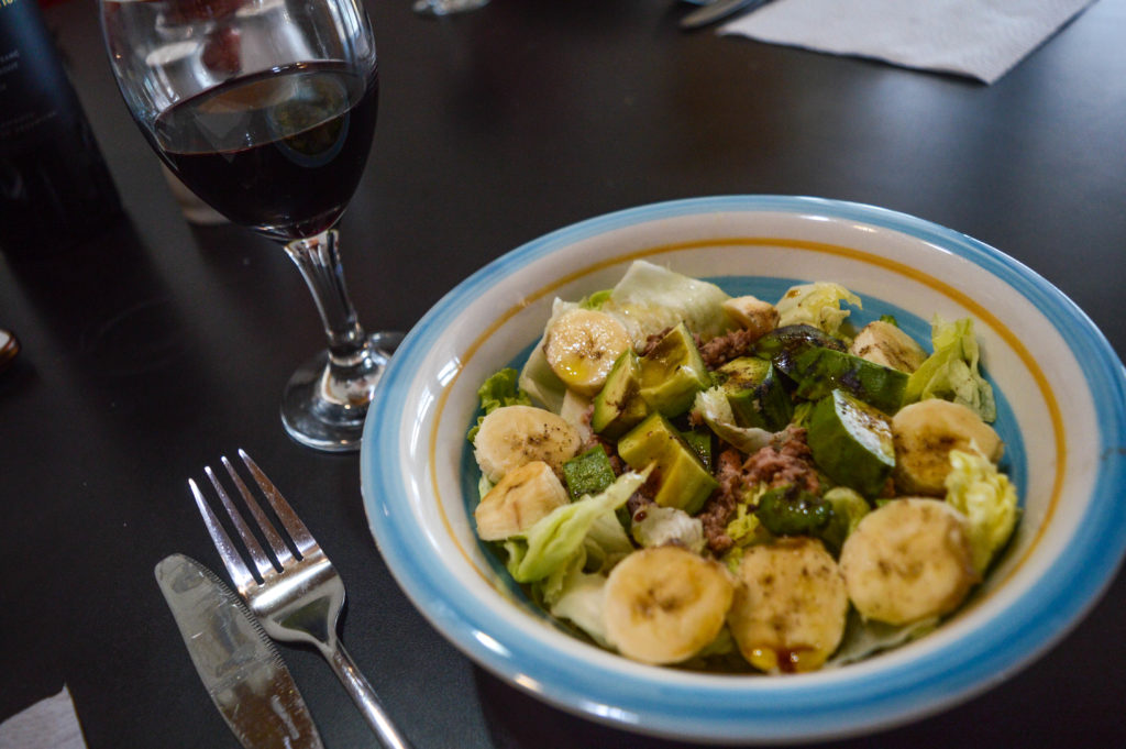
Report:
[[[286,385],[286,431],[357,449],[402,338],[360,327],[333,229],[375,131],[378,68],[360,0],[100,5],[114,74],[150,145],[220,213],[282,242],[313,294],[329,345]]]

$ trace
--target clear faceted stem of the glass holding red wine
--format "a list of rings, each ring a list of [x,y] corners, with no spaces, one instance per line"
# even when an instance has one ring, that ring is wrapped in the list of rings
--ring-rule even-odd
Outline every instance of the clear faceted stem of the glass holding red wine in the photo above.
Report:
[[[337,230],[293,240],[285,250],[296,264],[321,313],[329,338],[329,360],[340,367],[360,364],[366,355],[367,337],[348,298]]]

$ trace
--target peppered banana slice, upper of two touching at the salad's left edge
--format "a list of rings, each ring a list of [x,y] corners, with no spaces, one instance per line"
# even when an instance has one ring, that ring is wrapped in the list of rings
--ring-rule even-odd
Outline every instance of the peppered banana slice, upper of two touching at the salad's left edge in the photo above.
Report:
[[[497,483],[533,461],[543,461],[561,475],[579,446],[579,431],[563,417],[531,405],[504,405],[481,421],[473,455],[485,478]]]

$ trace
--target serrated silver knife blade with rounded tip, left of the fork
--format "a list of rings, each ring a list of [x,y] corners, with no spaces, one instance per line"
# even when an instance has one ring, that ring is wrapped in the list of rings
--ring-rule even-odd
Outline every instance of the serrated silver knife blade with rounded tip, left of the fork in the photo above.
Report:
[[[154,572],[208,696],[242,746],[323,749],[289,670],[242,600],[182,554]]]

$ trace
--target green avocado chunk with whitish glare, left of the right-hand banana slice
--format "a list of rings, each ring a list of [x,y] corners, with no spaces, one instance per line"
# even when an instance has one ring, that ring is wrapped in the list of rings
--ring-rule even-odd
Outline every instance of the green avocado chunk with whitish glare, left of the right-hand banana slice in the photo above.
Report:
[[[825,475],[868,499],[879,496],[895,466],[891,421],[843,390],[813,407],[806,442]]]

